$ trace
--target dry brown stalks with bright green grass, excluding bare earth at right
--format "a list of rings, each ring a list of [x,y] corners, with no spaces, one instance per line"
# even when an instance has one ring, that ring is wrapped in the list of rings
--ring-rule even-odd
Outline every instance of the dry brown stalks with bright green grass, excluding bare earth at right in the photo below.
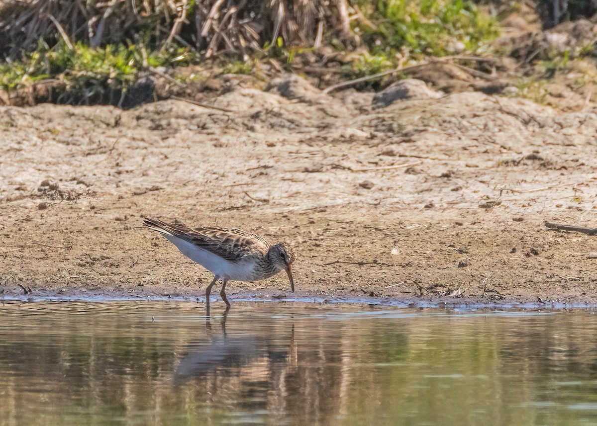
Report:
[[[14,0],[0,8],[0,87],[13,94],[0,98],[126,106],[125,92],[156,73],[338,81],[481,53],[497,35],[494,18],[461,0]],[[189,66],[199,70],[179,71]]]

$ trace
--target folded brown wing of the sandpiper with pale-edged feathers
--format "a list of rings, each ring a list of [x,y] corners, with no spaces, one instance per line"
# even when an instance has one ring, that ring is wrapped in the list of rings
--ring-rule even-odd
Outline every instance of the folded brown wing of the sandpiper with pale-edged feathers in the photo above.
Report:
[[[266,254],[269,247],[267,241],[259,235],[240,229],[189,228],[150,218],[144,218],[144,223],[154,231],[179,237],[229,261],[238,261],[255,252]]]

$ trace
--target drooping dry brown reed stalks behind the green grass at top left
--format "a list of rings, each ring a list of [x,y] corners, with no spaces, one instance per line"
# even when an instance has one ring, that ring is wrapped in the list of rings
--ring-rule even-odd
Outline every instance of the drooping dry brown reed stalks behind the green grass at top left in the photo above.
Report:
[[[138,41],[152,48],[181,41],[205,57],[244,54],[266,42],[322,44],[349,35],[347,0],[5,0],[0,2],[0,55],[19,57],[40,40],[50,47]]]

